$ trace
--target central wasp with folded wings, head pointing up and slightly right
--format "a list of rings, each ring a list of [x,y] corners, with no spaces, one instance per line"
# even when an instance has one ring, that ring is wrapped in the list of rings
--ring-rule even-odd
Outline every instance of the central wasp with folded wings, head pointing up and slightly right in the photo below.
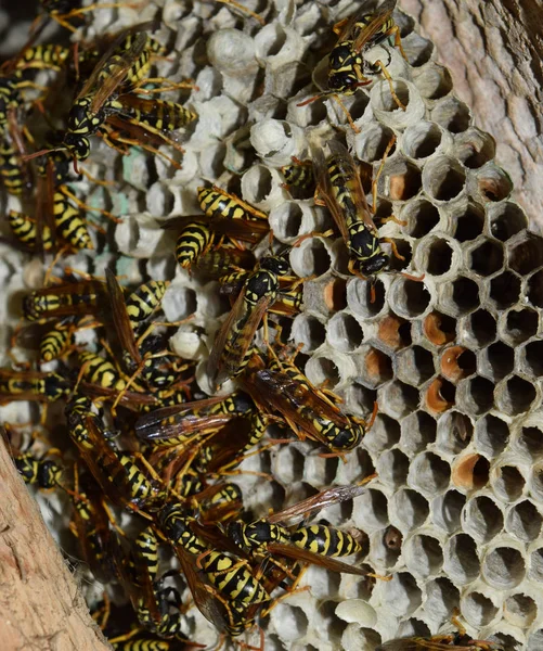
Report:
[[[238,375],[247,365],[253,337],[266,311],[279,294],[279,278],[288,272],[281,257],[262,258],[259,268],[250,273],[237,296],[230,315],[216,335],[207,370],[210,382],[219,387],[229,378]]]

